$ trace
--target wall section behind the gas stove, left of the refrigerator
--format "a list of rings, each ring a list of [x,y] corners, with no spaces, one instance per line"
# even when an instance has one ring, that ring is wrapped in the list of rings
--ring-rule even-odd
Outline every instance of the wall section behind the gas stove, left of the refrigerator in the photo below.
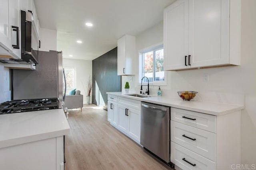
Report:
[[[11,99],[9,68],[0,63],[0,103]]]

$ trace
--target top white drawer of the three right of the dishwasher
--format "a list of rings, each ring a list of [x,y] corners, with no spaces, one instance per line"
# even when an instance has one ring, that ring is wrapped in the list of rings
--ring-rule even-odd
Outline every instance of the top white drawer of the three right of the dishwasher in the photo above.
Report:
[[[171,120],[216,133],[216,116],[171,107]]]

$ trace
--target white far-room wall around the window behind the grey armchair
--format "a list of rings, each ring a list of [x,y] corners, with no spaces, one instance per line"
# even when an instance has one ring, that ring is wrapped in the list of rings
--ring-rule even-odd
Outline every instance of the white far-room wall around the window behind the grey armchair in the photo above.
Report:
[[[63,59],[63,67],[76,68],[76,89],[81,91],[84,95],[84,104],[87,103],[86,91],[87,81],[92,78],[92,61],[89,60],[76,60],[76,59]],[[67,93],[70,90],[67,91]],[[90,95],[90,103],[92,103],[92,93]]]

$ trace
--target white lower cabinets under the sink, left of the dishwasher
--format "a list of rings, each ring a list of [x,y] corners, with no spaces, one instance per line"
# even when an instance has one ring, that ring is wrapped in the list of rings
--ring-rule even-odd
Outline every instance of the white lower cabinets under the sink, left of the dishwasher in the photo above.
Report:
[[[140,144],[140,101],[108,95],[108,121]]]

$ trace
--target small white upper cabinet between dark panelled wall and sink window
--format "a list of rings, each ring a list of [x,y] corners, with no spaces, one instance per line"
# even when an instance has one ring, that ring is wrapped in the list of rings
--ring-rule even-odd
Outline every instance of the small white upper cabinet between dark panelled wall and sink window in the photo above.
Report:
[[[135,37],[124,35],[117,42],[118,75],[133,75]]]

